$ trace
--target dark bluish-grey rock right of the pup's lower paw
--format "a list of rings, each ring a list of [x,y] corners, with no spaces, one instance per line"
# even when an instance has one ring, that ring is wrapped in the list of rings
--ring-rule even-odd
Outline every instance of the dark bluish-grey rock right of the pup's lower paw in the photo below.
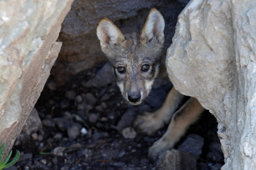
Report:
[[[203,147],[203,137],[197,134],[190,134],[186,137],[185,141],[178,146],[177,150],[179,151],[187,151],[195,156],[196,159],[202,153]]]

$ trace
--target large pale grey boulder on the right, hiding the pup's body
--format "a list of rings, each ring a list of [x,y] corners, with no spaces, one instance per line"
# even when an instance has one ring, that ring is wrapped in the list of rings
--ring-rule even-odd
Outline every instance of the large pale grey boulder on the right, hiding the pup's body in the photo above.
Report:
[[[256,1],[192,0],[167,53],[175,88],[218,121],[225,165],[256,168]]]

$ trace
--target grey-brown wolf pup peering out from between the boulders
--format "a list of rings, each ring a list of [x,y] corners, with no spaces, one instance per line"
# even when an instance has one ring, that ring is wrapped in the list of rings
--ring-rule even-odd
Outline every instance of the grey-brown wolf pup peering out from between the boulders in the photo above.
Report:
[[[166,73],[166,51],[174,35],[173,25],[165,28],[165,20],[155,8],[150,10],[141,33],[123,34],[110,19],[99,20],[97,36],[101,49],[113,67],[117,85],[128,103],[141,104],[149,95],[157,75]],[[146,112],[134,120],[138,131],[149,136],[170,122],[166,133],[149,148],[151,159],[156,160],[159,153],[173,148],[205,110],[193,97],[177,110],[183,98],[184,95],[173,87],[160,109]]]

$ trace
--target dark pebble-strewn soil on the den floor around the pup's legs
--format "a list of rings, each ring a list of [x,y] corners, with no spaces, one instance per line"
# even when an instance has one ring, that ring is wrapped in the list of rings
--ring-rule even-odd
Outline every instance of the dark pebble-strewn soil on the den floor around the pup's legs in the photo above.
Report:
[[[109,78],[112,73],[104,66],[102,63],[83,71],[62,87],[56,87],[49,77],[35,105],[43,127],[34,132],[38,135],[34,138],[21,134],[16,139],[13,151],[19,150],[21,157],[12,169],[155,169],[157,162],[149,160],[147,149],[166,128],[155,137],[133,132],[128,138],[123,137],[122,129],[131,127],[131,121],[143,111],[160,107],[171,84],[159,81],[152,90],[152,95],[156,95],[152,97],[153,104],[149,101],[133,107],[122,99],[119,88]],[[216,132],[216,119],[206,111],[176,148],[187,135],[198,134],[204,143],[197,168],[220,169],[224,158]]]

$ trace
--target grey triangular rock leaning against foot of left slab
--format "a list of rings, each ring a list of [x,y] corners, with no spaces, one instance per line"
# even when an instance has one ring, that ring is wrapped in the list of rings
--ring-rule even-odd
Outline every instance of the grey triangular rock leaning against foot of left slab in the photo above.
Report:
[[[32,132],[37,132],[41,128],[41,119],[38,116],[37,109],[33,108],[22,129],[22,133],[25,133],[26,135],[30,136]]]

